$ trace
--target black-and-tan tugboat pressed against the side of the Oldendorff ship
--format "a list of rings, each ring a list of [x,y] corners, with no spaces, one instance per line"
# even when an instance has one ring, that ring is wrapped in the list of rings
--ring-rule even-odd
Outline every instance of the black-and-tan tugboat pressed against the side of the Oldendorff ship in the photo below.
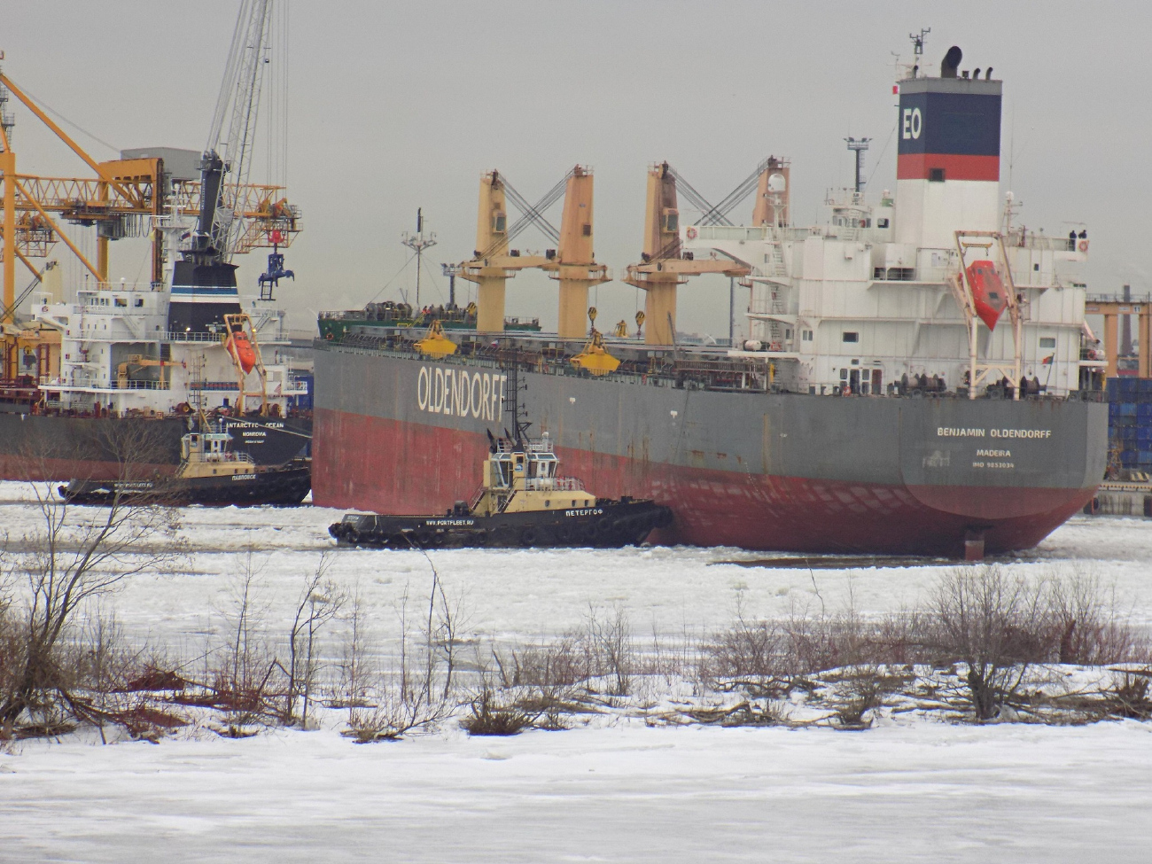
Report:
[[[435,329],[435,327],[433,327]],[[441,336],[442,339],[442,336]],[[447,340],[444,340],[447,341]],[[448,343],[450,344],[450,342]],[[515,435],[488,432],[480,488],[442,516],[378,516],[349,513],[328,528],[342,546],[442,548],[463,546],[597,546],[644,543],[672,524],[672,510],[651,499],[597,498],[575,477],[560,477],[552,439],[526,437],[517,408],[520,385],[509,370],[507,400]]]

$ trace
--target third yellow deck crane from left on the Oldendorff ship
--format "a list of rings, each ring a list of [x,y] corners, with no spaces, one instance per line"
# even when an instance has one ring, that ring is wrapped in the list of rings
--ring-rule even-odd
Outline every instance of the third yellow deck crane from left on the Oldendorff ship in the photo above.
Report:
[[[641,263],[630,265],[623,280],[645,291],[645,344],[674,344],[676,288],[687,282],[689,276],[720,273],[743,278],[751,272],[752,268],[743,262],[718,258],[696,260],[690,253],[681,252],[676,175],[668,162],[653,165],[647,177],[644,251]]]

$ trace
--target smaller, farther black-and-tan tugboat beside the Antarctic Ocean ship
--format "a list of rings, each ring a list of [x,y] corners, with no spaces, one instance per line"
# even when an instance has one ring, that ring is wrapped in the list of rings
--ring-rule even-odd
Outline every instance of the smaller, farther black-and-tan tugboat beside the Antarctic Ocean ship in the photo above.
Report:
[[[298,505],[312,487],[311,464],[257,465],[247,453],[230,449],[232,435],[207,425],[181,440],[183,457],[175,475],[143,479],[73,480],[60,487],[67,501],[83,505],[158,503]]]

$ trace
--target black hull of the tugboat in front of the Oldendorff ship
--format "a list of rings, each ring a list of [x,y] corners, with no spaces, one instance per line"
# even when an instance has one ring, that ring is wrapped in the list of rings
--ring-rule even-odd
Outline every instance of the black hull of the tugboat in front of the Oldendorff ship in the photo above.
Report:
[[[672,510],[652,501],[597,501],[594,507],[494,516],[376,516],[354,514],[328,528],[341,546],[396,550],[461,547],[620,548],[644,543],[672,524]]]

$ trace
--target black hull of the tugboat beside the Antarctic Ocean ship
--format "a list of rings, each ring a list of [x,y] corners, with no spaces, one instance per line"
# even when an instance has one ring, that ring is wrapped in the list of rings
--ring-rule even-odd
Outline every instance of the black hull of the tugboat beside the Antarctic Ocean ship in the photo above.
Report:
[[[111,505],[119,495],[120,502],[127,505],[293,507],[304,500],[311,487],[311,465],[291,462],[282,468],[256,469],[225,477],[156,475],[143,480],[73,480],[60,487],[60,494],[73,503],[98,506]]]

